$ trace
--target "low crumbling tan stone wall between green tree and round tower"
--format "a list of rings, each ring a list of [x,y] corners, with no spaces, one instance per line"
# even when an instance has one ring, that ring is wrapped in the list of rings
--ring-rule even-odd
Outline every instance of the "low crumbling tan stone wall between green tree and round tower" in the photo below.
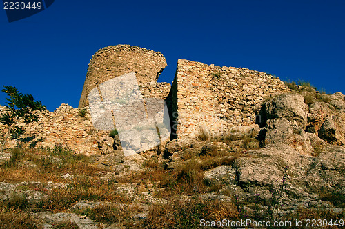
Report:
[[[6,112],[6,108],[0,106],[0,114],[2,112]],[[37,122],[20,123],[20,125],[26,130],[26,133],[34,136],[33,141],[43,140],[37,143],[37,148],[54,147],[55,144],[62,143],[70,146],[77,153],[86,155],[101,153],[99,143],[104,141],[104,138],[108,139],[109,132],[96,130],[92,126],[90,112],[87,111],[84,117],[81,117],[79,112],[80,110],[77,108],[61,104],[54,112],[36,112],[39,117]],[[0,123],[1,143],[7,132],[8,128]],[[29,135],[23,137],[26,136]],[[17,146],[17,142],[8,138],[5,148],[15,146]]]

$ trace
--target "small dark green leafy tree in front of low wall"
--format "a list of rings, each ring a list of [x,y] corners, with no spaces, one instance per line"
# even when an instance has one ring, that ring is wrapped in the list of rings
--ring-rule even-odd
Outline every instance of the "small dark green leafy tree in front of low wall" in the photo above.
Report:
[[[33,111],[46,110],[46,106],[43,106],[41,101],[35,101],[31,94],[21,94],[14,86],[3,86],[2,92],[8,94],[8,98],[5,105],[7,109],[0,115],[0,122],[8,126],[8,132],[3,139],[1,152],[10,134],[17,140],[23,135],[23,127],[17,126],[21,121],[26,124],[37,121],[38,116]]]

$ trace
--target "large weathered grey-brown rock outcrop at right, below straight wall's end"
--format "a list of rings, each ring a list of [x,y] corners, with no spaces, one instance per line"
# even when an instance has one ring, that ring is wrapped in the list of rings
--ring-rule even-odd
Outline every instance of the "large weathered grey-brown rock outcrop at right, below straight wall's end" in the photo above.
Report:
[[[264,118],[257,138],[262,148],[246,151],[246,157],[235,158],[232,166],[206,171],[204,182],[248,203],[248,215],[257,214],[258,203],[262,209],[271,208],[273,199],[284,204],[277,207],[279,214],[312,207],[341,213],[342,204],[328,196],[345,195],[345,148],[335,146],[343,145],[339,117],[344,114],[345,100],[341,93],[331,98],[333,102],[316,101],[308,109],[299,94],[270,97],[260,111]],[[315,125],[315,120],[322,125]],[[305,131],[313,125],[318,135]]]

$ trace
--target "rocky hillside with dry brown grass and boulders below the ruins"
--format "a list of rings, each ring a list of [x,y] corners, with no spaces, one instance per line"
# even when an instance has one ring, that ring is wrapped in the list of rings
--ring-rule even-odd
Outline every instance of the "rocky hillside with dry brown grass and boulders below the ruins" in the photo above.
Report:
[[[0,222],[197,228],[200,219],[344,220],[344,95],[295,88],[266,98],[257,114],[257,124],[235,132],[201,130],[130,157],[85,156],[63,144],[8,150],[0,155]]]

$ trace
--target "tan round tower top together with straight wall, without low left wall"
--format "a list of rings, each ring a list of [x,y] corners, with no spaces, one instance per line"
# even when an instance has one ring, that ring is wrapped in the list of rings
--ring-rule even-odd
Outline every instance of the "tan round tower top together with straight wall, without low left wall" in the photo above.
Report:
[[[88,66],[79,108],[88,106],[88,93],[101,83],[135,72],[144,98],[165,99],[172,138],[194,137],[255,123],[255,108],[268,95],[288,91],[278,78],[246,68],[219,67],[179,59],[172,86],[157,83],[166,67],[160,52],[128,45],[97,51]]]

